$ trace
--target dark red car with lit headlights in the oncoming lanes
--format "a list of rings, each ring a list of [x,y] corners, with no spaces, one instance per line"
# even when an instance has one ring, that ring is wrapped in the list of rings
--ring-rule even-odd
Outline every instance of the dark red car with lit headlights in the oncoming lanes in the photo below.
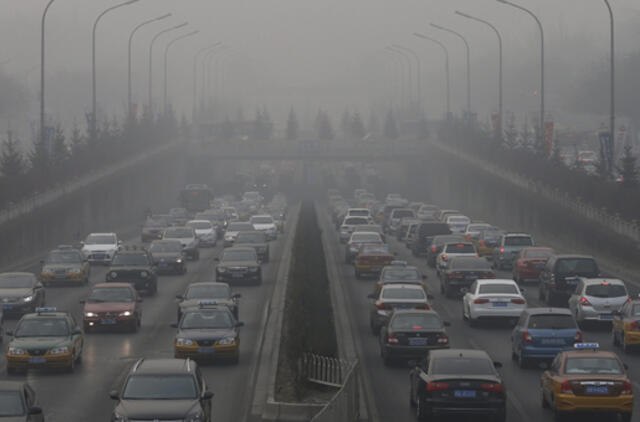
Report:
[[[129,283],[98,283],[84,304],[84,330],[96,327],[125,327],[136,332],[142,321],[142,299]]]

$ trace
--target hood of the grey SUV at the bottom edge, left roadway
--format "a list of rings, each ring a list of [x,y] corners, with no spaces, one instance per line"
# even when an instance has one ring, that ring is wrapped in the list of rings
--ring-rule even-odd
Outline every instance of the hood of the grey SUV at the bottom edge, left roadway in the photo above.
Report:
[[[183,420],[199,408],[198,400],[121,400],[115,412],[128,419]]]

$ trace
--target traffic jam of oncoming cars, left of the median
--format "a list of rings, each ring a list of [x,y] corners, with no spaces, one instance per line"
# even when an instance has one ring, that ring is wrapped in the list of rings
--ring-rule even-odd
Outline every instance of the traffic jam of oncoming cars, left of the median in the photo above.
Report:
[[[0,419],[6,413],[22,417],[11,420],[43,421],[44,393],[33,385],[39,380],[34,377],[46,380],[85,371],[86,365],[108,365],[108,359],[95,361],[96,350],[107,343],[128,350],[131,343],[123,333],[157,331],[157,321],[144,324],[156,318],[147,317],[147,301],[153,302],[154,315],[171,316],[173,341],[152,356],[136,357],[126,376],[113,374],[110,420],[215,419],[211,372],[218,364],[221,370],[239,364],[241,317],[249,314],[241,310],[238,290],[260,289],[273,244],[284,232],[287,200],[270,196],[267,201],[260,192],[247,191],[214,198],[206,185],[187,185],[178,207],[145,212],[138,239],[88,233],[77,244],[50,250],[39,272],[0,273],[8,376],[0,381]],[[190,264],[201,254],[211,268]],[[163,289],[175,289],[194,268],[197,274],[179,294],[165,295]],[[80,315],[50,299],[78,291]],[[157,302],[160,297],[163,303]],[[203,365],[210,363],[216,365],[205,372]]]

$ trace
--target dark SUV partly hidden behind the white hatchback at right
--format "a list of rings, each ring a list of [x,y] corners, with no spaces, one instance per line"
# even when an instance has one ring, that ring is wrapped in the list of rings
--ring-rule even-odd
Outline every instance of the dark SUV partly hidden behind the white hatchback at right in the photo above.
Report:
[[[600,268],[592,256],[552,255],[540,270],[538,299],[550,306],[566,306],[580,277],[600,277]]]

